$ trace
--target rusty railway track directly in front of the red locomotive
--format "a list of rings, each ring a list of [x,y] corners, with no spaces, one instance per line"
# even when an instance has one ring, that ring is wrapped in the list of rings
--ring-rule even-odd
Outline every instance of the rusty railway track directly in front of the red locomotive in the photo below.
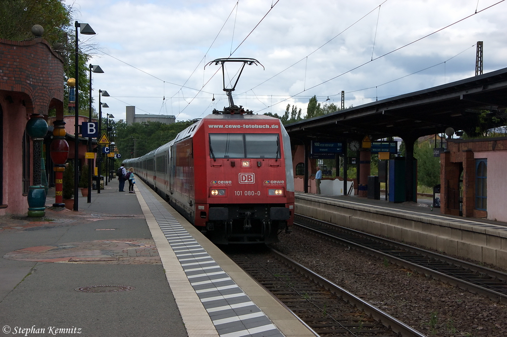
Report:
[[[267,247],[227,254],[322,337],[425,335]]]

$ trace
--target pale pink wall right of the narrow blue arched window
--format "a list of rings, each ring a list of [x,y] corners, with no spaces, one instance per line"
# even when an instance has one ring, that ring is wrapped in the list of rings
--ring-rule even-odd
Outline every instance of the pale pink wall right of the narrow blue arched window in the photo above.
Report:
[[[488,160],[488,220],[507,222],[507,151],[476,152],[475,158]]]

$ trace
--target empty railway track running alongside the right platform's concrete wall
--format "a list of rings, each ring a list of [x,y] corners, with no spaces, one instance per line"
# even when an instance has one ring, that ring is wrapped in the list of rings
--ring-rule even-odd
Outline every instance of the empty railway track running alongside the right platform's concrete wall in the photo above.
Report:
[[[505,273],[302,215],[296,215],[295,224],[350,248],[507,304]]]

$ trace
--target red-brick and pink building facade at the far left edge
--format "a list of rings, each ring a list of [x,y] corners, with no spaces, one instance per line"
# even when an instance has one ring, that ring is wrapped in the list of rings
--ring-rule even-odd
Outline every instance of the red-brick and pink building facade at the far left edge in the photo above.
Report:
[[[0,215],[27,213],[33,150],[25,126],[51,109],[63,118],[63,83],[62,58],[44,39],[0,39]]]

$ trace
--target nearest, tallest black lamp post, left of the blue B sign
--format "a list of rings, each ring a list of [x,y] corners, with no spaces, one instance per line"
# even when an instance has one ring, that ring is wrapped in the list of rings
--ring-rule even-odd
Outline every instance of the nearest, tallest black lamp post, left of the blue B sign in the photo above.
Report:
[[[95,31],[90,27],[88,23],[79,23],[76,21],[74,24],[76,27],[76,51],[75,51],[75,78],[76,78],[76,107],[75,107],[75,129],[74,129],[74,142],[75,142],[75,151],[74,151],[74,161],[75,161],[75,170],[74,170],[74,210],[78,210],[78,158],[79,158],[79,37],[78,37],[78,27],[80,28],[81,34],[85,35],[94,35]]]

